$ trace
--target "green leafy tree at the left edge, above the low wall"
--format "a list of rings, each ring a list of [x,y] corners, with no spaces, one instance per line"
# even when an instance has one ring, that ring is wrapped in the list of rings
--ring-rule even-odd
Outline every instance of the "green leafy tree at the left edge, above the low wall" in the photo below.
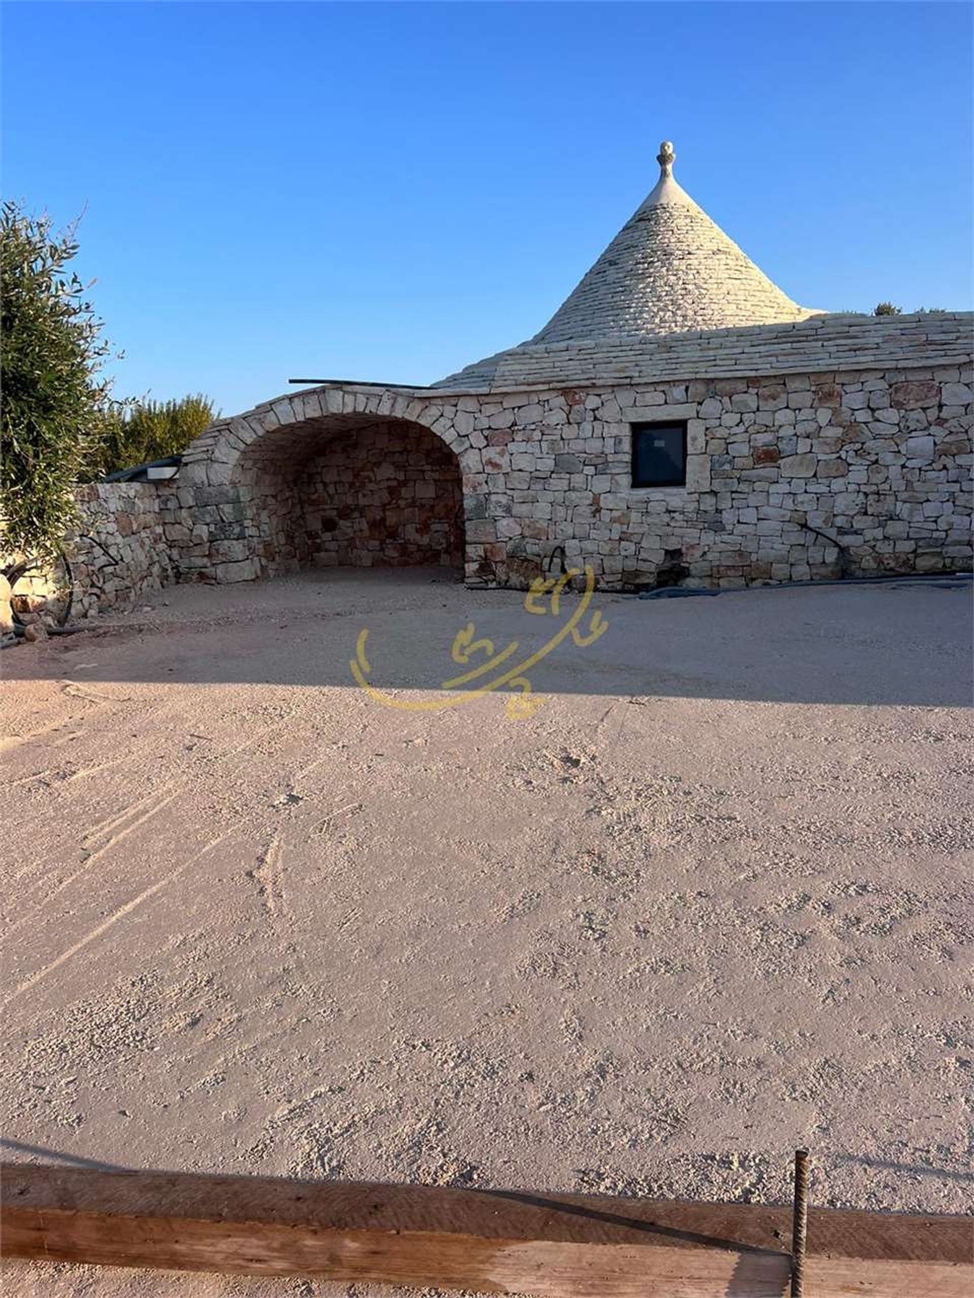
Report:
[[[69,262],[75,227],[18,204],[0,209],[0,518],[3,546],[55,554],[74,514],[71,488],[97,453],[112,345]]]

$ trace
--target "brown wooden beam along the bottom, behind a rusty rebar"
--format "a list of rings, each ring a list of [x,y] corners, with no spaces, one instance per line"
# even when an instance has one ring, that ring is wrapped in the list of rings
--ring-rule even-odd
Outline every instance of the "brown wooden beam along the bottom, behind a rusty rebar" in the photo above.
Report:
[[[3,1255],[540,1298],[782,1298],[791,1208],[3,1164]],[[969,1298],[971,1220],[812,1208],[814,1298]]]

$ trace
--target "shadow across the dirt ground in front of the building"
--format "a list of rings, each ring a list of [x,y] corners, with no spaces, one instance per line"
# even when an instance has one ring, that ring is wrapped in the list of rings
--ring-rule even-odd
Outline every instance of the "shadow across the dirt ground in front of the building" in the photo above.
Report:
[[[165,601],[165,602],[164,602]],[[544,602],[544,601],[543,601]],[[400,701],[444,702],[500,678],[501,692],[796,704],[969,706],[971,618],[964,582],[727,592],[668,601],[597,594],[605,631],[579,645],[557,615],[510,591],[468,591],[443,570],[325,570],[245,587],[175,587],[153,607],[3,657],[8,679],[253,683],[358,689],[351,661],[368,630],[369,680]],[[465,632],[460,658],[453,657]],[[544,646],[564,633],[551,649]],[[475,648],[475,641],[488,641]],[[509,649],[514,645],[513,649]],[[466,661],[461,661],[464,653]],[[525,666],[526,663],[526,666]]]

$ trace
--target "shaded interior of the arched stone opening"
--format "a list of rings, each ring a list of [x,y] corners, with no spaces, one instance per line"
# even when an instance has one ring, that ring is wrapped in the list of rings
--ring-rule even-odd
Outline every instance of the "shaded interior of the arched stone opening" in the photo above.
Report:
[[[335,414],[282,424],[240,450],[227,485],[247,540],[240,557],[256,561],[256,575],[464,566],[460,461],[409,419]]]

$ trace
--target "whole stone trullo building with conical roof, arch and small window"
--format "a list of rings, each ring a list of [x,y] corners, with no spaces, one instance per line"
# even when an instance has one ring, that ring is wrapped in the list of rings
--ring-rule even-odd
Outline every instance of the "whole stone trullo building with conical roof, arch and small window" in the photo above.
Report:
[[[432,388],[291,392],[116,488],[130,584],[145,554],[217,582],[590,563],[610,589],[969,569],[971,315],[796,305],[673,161],[530,341]]]

